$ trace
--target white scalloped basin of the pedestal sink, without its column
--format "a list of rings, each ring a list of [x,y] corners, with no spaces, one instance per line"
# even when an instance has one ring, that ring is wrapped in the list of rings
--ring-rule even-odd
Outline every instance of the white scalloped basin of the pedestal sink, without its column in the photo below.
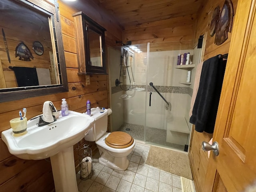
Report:
[[[94,118],[86,114],[69,112],[42,127],[37,126],[38,118],[29,120],[27,134],[14,137],[12,129],[8,129],[2,132],[2,140],[18,158],[40,160],[54,156],[84,138],[94,124]]]

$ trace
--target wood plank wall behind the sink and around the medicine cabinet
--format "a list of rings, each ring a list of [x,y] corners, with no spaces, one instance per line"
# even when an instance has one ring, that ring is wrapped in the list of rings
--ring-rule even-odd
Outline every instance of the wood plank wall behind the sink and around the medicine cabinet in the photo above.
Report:
[[[72,14],[75,10],[60,3],[60,21],[62,25],[62,38],[65,50],[66,70],[68,75],[69,92],[40,96],[12,102],[0,103],[0,132],[10,128],[9,120],[16,118],[19,110],[27,108],[27,118],[42,114],[43,103],[50,100],[57,109],[60,109],[61,99],[66,98],[69,109],[77,112],[86,111],[86,101],[90,100],[92,107],[109,106],[108,98],[108,75],[90,76],[90,85],[86,85],[85,76],[78,76],[78,64],[76,58],[76,43],[74,36],[74,23]],[[84,1],[81,9],[83,12],[96,13],[98,6],[89,1]],[[106,13],[90,14],[96,22],[100,18],[109,18]],[[99,17],[98,17],[99,15]],[[115,40],[122,39],[122,29],[113,22],[100,23],[106,28],[106,46],[116,46]],[[108,59],[106,59],[108,60]],[[85,141],[80,142],[80,146]],[[75,164],[78,165],[78,155],[74,145]],[[93,153],[97,148],[92,144]],[[11,155],[2,139],[0,138],[0,191],[22,192],[37,191],[50,192],[54,189],[52,169],[49,159],[46,160],[22,160]]]

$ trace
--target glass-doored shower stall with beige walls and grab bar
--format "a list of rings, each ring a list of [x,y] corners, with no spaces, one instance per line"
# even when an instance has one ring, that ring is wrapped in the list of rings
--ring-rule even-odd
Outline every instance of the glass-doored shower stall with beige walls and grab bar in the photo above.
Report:
[[[201,49],[192,41],[148,43],[109,48],[111,131],[135,140],[188,151],[194,67]],[[190,53],[189,65],[177,65]],[[184,62],[185,64],[185,62]],[[187,80],[191,71],[191,80]]]

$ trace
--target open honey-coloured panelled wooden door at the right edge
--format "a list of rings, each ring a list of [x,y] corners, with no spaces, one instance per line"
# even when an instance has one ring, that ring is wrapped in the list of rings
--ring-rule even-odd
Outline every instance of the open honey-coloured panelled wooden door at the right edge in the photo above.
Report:
[[[205,192],[244,192],[256,182],[256,0],[238,0]],[[252,190],[256,191],[255,189]]]

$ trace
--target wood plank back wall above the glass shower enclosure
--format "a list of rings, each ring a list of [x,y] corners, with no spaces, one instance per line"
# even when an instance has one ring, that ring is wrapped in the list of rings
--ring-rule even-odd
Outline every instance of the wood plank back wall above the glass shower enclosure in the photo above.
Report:
[[[196,30],[196,14],[154,22],[125,26],[123,41],[132,44],[174,42],[170,48],[158,46],[158,50],[193,49]],[[150,51],[153,51],[150,49]]]

